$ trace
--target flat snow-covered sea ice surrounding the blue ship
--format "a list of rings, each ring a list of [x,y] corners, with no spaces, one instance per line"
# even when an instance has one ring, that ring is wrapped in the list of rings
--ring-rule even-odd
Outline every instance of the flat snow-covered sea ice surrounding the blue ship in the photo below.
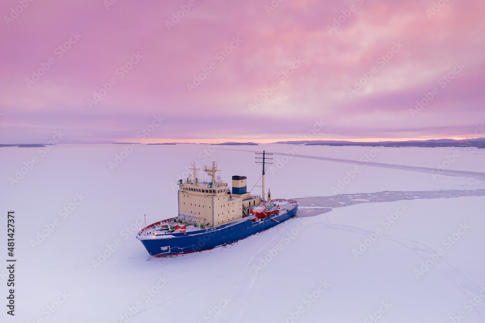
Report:
[[[148,257],[137,214],[175,216],[185,167],[218,161],[224,180],[247,176],[250,190],[262,149],[282,154],[266,187],[301,198],[298,218],[213,250]],[[484,151],[372,149],[139,145],[110,167],[124,145],[0,148],[1,214],[16,216],[7,321],[485,322]]]

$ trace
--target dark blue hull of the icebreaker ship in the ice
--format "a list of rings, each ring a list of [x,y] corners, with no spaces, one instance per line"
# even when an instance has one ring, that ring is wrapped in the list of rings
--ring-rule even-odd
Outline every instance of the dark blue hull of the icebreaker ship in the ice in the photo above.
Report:
[[[298,203],[291,209],[254,222],[251,221],[251,218],[246,217],[226,225],[192,232],[178,232],[145,239],[140,239],[139,234],[138,239],[141,240],[151,256],[166,256],[202,251],[233,243],[267,230],[290,219],[296,214],[297,210]]]

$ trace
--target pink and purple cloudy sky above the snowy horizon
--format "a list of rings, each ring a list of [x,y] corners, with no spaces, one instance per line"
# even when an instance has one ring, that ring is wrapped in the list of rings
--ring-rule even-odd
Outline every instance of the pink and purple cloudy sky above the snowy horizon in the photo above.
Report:
[[[0,144],[485,137],[483,0],[3,0]]]

